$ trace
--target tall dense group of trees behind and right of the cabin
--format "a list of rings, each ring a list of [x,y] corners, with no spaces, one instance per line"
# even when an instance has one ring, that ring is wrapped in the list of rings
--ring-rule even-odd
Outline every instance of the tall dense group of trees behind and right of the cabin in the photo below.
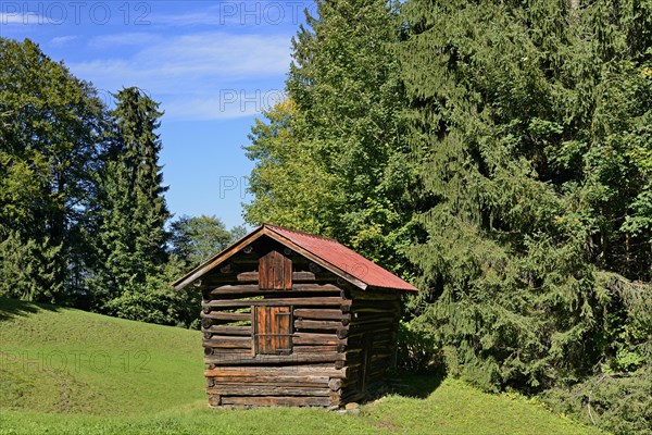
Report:
[[[652,433],[652,2],[317,7],[247,220],[412,279],[405,366]]]

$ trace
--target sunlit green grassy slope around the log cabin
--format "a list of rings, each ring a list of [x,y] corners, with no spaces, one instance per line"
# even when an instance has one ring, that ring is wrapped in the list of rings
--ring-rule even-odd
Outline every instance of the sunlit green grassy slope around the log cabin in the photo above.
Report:
[[[360,415],[208,410],[197,332],[0,299],[0,433],[595,433],[524,399],[405,377]],[[64,363],[65,361],[65,363]]]

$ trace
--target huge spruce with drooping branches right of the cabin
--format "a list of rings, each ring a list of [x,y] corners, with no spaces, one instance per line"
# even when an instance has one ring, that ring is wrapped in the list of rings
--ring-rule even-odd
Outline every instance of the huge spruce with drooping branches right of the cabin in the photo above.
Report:
[[[424,186],[414,323],[452,374],[489,389],[623,370],[624,348],[640,368],[650,336],[623,288],[651,296],[630,283],[652,270],[650,3],[412,0],[404,13]]]

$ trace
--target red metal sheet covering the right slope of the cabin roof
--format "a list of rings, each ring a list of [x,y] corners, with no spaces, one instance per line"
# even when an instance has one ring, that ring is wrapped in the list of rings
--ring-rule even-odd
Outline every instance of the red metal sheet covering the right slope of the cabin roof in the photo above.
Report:
[[[265,224],[264,226],[371,287],[417,291],[417,288],[412,284],[406,283],[337,240],[269,224]]]

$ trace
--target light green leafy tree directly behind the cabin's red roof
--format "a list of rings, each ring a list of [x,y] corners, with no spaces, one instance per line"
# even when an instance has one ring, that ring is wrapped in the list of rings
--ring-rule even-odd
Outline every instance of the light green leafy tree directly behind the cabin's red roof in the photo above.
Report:
[[[414,182],[394,55],[396,4],[317,1],[293,41],[289,99],[256,121],[250,223],[335,237],[403,271]]]

